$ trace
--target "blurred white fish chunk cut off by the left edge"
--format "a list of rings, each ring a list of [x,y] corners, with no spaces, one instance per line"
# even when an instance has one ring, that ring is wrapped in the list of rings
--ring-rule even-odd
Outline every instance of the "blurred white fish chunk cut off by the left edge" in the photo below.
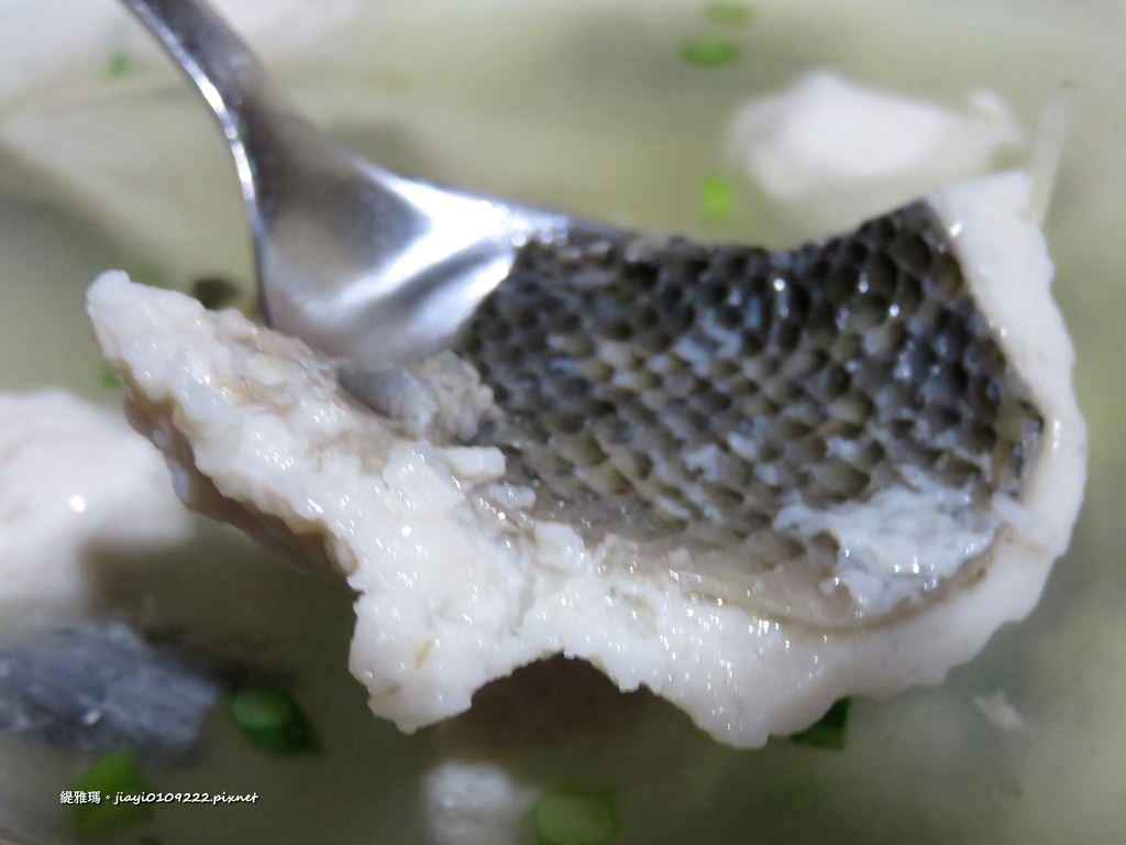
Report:
[[[119,413],[61,390],[0,394],[5,623],[83,613],[99,553],[153,557],[191,526],[160,455]]]

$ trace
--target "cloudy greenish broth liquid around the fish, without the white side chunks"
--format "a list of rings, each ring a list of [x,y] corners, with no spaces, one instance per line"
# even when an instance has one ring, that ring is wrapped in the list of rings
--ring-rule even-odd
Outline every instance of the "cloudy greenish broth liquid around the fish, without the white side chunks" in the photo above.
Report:
[[[73,19],[53,25],[50,5],[55,18],[73,7]],[[84,288],[106,267],[180,290],[222,275],[250,308],[233,172],[194,95],[118,10],[7,6],[36,50],[17,27],[0,33],[0,389],[55,385],[117,408]],[[1090,428],[1087,501],[1034,614],[938,687],[854,701],[843,750],[723,747],[671,705],[561,659],[403,735],[370,717],[348,674],[352,597],[341,586],[203,519],[160,551],[91,552],[88,606],[284,679],[320,746],[263,755],[221,704],[194,757],[146,764],[145,780],[258,800],[161,803],[120,839],[522,843],[528,808],[570,786],[609,797],[620,843],[1116,840],[1126,822],[1126,7],[767,0],[742,20],[689,2],[332,2],[316,18],[301,6],[248,5],[249,39],[304,109],[381,163],[634,229],[766,246],[848,226],[870,198],[771,199],[725,152],[747,100],[816,68],[954,108],[986,87],[1031,135],[1058,82],[1075,80],[1045,230]],[[700,50],[731,61],[700,64]],[[994,163],[1027,152],[1006,155]],[[0,644],[36,613],[0,605]],[[69,839],[73,808],[60,792],[91,759],[0,735],[0,830]]]

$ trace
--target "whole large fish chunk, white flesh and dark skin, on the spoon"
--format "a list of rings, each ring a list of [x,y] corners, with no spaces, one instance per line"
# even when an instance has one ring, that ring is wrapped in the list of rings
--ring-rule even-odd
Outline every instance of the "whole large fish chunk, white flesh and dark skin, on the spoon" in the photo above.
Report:
[[[529,254],[467,339],[375,373],[122,273],[88,308],[181,498],[356,590],[376,714],[414,730],[562,652],[754,747],[939,682],[1066,548],[1085,433],[1028,195],[1004,174],[863,249],[720,250],[723,285],[696,254],[678,282],[596,244],[615,284],[553,301]],[[808,277],[826,250],[848,260]],[[520,304],[542,296],[558,324]]]

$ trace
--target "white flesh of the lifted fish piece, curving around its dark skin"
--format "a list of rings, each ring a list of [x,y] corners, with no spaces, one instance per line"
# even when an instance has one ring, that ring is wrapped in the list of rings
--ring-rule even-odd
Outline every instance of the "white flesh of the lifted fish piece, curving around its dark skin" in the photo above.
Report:
[[[534,491],[506,477],[499,448],[411,436],[341,390],[334,362],[233,311],[120,273],[93,284],[88,310],[134,425],[164,451],[185,500],[347,577],[358,594],[349,664],[376,714],[414,730],[562,652],[756,747],[842,695],[938,683],[1031,610],[1066,546],[1085,430],[1028,196],[1013,172],[928,197],[1044,420],[1020,495],[1027,519],[1001,526],[973,577],[938,601],[841,630],[706,595],[685,576],[689,549],[642,554],[613,533],[588,542],[531,518]],[[482,385],[462,386],[458,401],[488,406]]]

